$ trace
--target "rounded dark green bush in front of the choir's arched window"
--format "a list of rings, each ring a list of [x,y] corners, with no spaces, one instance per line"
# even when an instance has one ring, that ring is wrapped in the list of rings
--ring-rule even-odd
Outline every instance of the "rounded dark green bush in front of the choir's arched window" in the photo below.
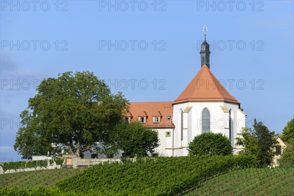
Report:
[[[221,133],[202,133],[188,146],[189,155],[232,155],[230,140]]]

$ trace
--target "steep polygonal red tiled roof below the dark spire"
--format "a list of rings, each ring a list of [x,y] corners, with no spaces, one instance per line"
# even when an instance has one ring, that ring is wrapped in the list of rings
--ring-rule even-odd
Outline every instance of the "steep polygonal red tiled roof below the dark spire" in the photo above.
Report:
[[[187,101],[227,101],[238,103],[206,65],[202,66],[190,84],[172,104]]]

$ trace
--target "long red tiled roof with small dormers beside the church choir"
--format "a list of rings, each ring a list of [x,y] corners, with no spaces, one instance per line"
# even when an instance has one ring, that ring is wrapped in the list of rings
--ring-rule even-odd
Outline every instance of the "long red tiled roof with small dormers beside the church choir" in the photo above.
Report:
[[[139,117],[146,117],[144,125],[152,128],[172,128],[172,101],[163,102],[130,102],[129,112],[132,114],[131,122],[139,120]],[[153,117],[160,117],[160,123],[153,123]],[[170,117],[170,120],[168,119]],[[129,115],[125,115],[129,117]]]

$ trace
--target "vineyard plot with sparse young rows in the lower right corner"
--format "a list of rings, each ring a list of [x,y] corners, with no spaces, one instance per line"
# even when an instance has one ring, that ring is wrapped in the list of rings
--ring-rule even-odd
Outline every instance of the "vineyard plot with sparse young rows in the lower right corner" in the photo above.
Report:
[[[294,168],[246,169],[204,181],[185,196],[294,196]]]

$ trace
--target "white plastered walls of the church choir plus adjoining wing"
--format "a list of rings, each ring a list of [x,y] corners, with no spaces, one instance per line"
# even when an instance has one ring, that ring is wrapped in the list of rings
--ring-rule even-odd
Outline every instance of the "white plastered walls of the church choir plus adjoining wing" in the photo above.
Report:
[[[239,104],[225,101],[190,101],[173,105],[174,128],[157,129],[160,147],[156,148],[155,153],[159,156],[187,156],[189,143],[202,133],[202,112],[205,108],[210,113],[210,131],[231,137],[234,154],[241,150],[236,147],[236,137],[237,133],[246,126],[246,114],[239,109]],[[183,136],[181,137],[182,111]],[[231,128],[229,113],[231,113]]]

